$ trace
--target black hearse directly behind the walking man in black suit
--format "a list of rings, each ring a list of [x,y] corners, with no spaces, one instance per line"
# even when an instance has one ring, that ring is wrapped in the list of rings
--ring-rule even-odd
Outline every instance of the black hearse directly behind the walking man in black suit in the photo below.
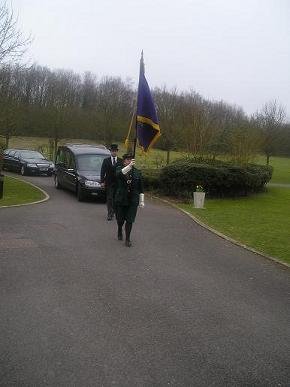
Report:
[[[57,189],[75,192],[79,201],[88,196],[105,200],[101,187],[101,167],[110,151],[103,145],[67,144],[58,148],[54,184]]]

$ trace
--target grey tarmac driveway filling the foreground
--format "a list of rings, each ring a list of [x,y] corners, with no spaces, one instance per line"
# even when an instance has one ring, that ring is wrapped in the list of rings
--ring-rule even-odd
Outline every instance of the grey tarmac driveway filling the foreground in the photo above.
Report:
[[[1,386],[289,386],[290,270],[147,201],[0,209]]]

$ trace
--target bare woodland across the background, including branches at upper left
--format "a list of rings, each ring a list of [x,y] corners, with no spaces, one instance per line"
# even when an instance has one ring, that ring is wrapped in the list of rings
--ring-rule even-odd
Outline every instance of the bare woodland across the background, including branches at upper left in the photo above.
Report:
[[[91,139],[104,144],[123,142],[136,105],[130,80],[87,72],[51,70],[16,64],[30,43],[17,29],[17,19],[0,2],[0,136],[50,138],[56,149],[61,138]],[[264,153],[290,155],[290,124],[275,100],[251,117],[237,106],[210,101],[194,90],[155,88],[153,96],[162,136],[156,146],[183,150],[199,157],[227,157],[248,163]]]

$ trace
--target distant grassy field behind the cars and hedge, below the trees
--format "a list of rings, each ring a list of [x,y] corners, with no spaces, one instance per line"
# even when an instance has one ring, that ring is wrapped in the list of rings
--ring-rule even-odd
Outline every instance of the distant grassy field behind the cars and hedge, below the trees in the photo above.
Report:
[[[62,139],[59,144],[65,143],[87,143],[96,144],[96,142],[84,139]],[[101,142],[99,142],[101,143]],[[12,137],[9,143],[10,148],[30,148],[39,150],[42,148],[43,152],[48,156],[49,141],[45,137]],[[119,143],[119,154],[125,152],[124,144]],[[170,152],[170,161],[185,156],[186,153]],[[166,152],[159,149],[152,149],[148,154],[143,154],[137,149],[136,163],[140,168],[160,168],[166,165]],[[266,158],[259,156],[256,163],[265,164]],[[290,184],[290,158],[286,157],[271,157],[270,164],[274,167],[272,183]]]

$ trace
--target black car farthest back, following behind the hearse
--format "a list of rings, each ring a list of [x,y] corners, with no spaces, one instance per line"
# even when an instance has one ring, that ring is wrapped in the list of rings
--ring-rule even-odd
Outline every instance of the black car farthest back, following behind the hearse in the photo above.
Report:
[[[3,169],[18,172],[21,175],[52,175],[53,162],[40,152],[29,149],[6,149],[3,157]]]

